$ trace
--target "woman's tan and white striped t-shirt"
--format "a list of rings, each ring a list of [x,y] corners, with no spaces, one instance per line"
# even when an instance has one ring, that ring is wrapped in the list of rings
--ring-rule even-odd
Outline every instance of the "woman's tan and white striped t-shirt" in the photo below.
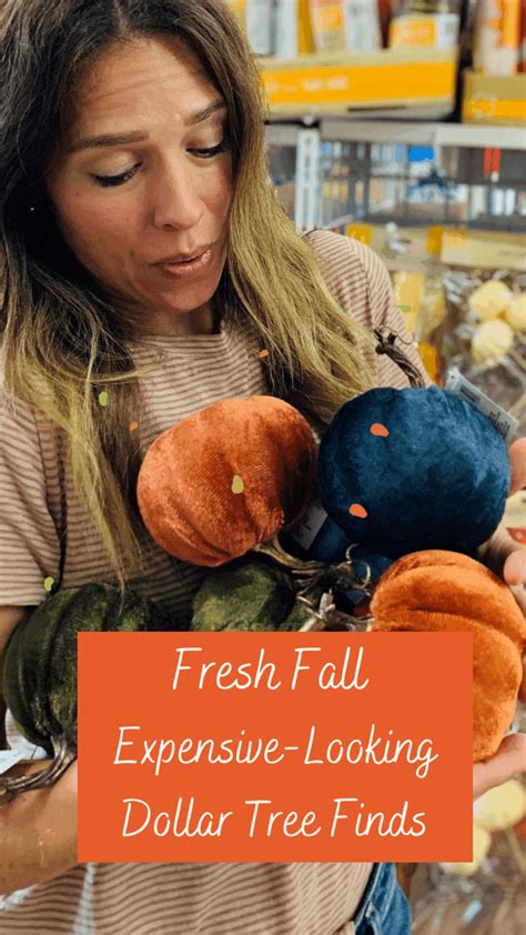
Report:
[[[387,271],[372,251],[327,231],[311,233],[310,242],[328,288],[355,322],[388,326],[409,340]],[[239,325],[223,323],[215,334],[149,338],[133,348],[136,363],[162,354],[160,368],[141,378],[136,431],[143,451],[215,400],[269,393],[261,349]],[[405,350],[422,370],[409,344]],[[407,385],[387,358],[375,356],[374,363],[378,386]],[[45,597],[44,579],[59,573],[64,501],[62,585],[110,580],[99,534],[64,471],[59,430],[4,392],[0,418],[0,606],[29,606]],[[143,549],[146,571],[133,586],[174,615],[186,615],[206,570],[172,559],[146,533]],[[12,747],[28,750],[9,715],[8,736]],[[372,864],[343,863],[82,864],[0,896],[0,933],[334,935],[356,912],[371,869]]]

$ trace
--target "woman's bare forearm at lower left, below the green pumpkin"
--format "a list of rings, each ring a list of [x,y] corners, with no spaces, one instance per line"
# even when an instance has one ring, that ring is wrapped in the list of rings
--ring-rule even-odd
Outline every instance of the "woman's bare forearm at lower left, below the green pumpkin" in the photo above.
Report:
[[[18,763],[7,775],[29,775],[50,763]],[[77,761],[52,786],[0,798],[0,895],[60,876],[78,864]]]

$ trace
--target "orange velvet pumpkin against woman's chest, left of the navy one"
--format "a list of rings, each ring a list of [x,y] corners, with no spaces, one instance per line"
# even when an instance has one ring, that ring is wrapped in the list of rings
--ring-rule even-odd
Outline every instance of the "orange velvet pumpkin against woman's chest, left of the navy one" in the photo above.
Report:
[[[214,566],[294,526],[312,502],[316,440],[273,396],[221,400],[163,432],[138,482],[144,524],[185,562]]]

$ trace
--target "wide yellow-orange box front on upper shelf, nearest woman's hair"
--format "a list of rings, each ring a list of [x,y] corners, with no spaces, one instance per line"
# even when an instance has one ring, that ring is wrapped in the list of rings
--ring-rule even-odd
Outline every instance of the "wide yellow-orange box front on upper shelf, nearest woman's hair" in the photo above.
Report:
[[[260,59],[259,66],[275,117],[393,107],[401,114],[419,108],[446,114],[455,100],[456,53],[447,50]]]

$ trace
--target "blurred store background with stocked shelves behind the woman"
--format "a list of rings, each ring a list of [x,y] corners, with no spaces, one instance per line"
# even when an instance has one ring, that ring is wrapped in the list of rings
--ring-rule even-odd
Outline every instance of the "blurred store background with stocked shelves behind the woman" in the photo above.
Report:
[[[380,253],[432,379],[459,370],[526,434],[526,0],[230,6],[257,56],[270,171],[297,229]],[[526,491],[506,524],[526,545]],[[401,871],[414,932],[524,935],[525,842],[516,781],[475,803],[472,864]]]

